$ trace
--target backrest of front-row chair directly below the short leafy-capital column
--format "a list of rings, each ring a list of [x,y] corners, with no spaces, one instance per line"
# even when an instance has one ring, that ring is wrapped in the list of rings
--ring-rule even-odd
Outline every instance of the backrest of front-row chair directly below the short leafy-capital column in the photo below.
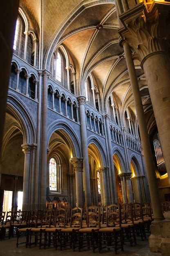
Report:
[[[72,208],[70,227],[82,227],[83,207]]]

